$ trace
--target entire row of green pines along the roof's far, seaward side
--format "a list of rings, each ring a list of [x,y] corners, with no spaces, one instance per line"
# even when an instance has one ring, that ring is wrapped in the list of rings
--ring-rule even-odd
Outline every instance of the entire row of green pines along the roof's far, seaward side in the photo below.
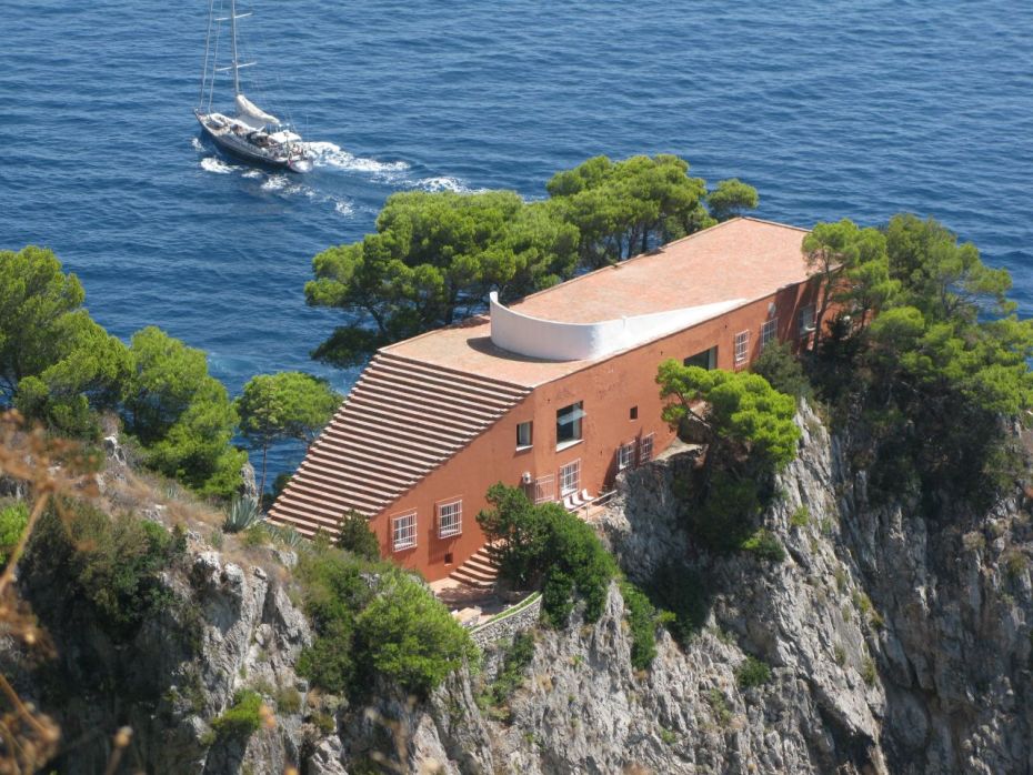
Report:
[[[357,365],[378,348],[646,251],[756,207],[756,191],[722,181],[710,195],[673,155],[605,157],[560,172],[545,201],[513,191],[390,197],[377,231],[313,259],[305,299],[347,322],[312,353]],[[715,215],[711,215],[706,205]]]

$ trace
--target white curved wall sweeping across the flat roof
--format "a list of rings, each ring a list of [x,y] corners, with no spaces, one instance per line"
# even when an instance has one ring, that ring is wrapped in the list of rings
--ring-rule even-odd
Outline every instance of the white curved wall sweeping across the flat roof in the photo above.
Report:
[[[492,293],[491,341],[518,355],[548,361],[582,361],[688,329],[743,302],[743,299],[734,299],[599,323],[563,323],[510,310],[499,303],[498,293]]]

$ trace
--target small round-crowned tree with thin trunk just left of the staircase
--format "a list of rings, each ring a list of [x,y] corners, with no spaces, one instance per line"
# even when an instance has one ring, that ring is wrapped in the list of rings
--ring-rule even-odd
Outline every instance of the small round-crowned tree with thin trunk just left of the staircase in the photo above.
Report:
[[[234,406],[241,435],[252,449],[262,451],[260,493],[265,492],[269,447],[285,439],[311,444],[340,403],[341,395],[311,374],[290,371],[259,374],[248,381]]]

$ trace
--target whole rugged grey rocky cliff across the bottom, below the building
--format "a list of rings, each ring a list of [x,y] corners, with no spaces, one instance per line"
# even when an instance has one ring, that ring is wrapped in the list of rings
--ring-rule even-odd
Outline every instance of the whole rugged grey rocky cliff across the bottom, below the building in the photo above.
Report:
[[[599,527],[629,577],[646,586],[673,565],[705,586],[701,626],[683,644],[661,633],[646,671],[631,667],[614,585],[598,622],[575,612],[534,631],[505,713],[478,702],[498,655],[427,702],[383,686],[373,707],[351,707],[294,672],[311,634],[289,553],[231,558],[194,534],[167,580],[179,604],[132,643],[112,647],[74,612],[50,617],[69,682],[60,721],[84,741],[62,766],[102,769],[98,731],[129,725],[130,768],[170,773],[1033,771],[1025,496],[935,517],[876,504],[842,442],[806,409],[798,423],[800,456],[764,515],[783,562],[694,545],[674,485],[692,453],[619,482]],[[30,597],[60,606],[59,591]],[[748,657],[770,675],[743,681]],[[245,742],[213,739],[242,687],[274,717]]]

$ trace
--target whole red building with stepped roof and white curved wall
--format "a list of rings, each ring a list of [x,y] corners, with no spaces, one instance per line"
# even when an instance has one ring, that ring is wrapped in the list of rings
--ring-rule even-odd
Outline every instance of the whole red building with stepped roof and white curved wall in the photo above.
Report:
[[[332,534],[354,509],[385,557],[448,576],[483,545],[495,482],[595,496],[671,443],[661,361],[743,369],[813,330],[805,235],[735,219],[382,349],[270,519]]]

